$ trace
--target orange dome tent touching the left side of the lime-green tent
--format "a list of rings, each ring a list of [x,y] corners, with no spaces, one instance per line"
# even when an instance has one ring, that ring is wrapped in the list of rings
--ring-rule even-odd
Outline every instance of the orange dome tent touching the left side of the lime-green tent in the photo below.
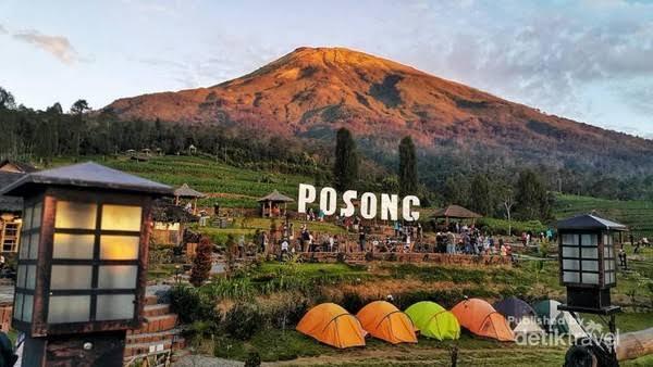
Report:
[[[356,314],[356,317],[362,328],[374,338],[393,344],[417,343],[412,321],[392,303],[385,301],[369,303]]]

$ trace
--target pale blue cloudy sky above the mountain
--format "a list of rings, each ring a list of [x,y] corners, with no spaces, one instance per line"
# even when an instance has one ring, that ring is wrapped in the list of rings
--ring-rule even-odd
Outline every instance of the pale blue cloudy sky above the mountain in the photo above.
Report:
[[[653,138],[653,0],[0,0],[0,87],[64,109],[346,47]]]

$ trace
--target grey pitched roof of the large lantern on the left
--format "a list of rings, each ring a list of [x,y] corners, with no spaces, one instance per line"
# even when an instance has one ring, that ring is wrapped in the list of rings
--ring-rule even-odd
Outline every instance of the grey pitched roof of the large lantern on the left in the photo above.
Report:
[[[79,163],[23,176],[0,191],[0,194],[23,195],[29,188],[66,186],[114,191],[172,195],[168,185],[104,167],[94,162]]]

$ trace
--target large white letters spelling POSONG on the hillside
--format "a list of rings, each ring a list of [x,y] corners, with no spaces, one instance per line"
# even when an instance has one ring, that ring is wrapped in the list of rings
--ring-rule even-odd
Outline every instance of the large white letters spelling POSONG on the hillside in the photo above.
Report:
[[[358,192],[347,190],[343,192],[344,206],[340,210],[340,215],[350,217],[356,212],[354,200],[358,198]],[[299,184],[298,212],[306,213],[307,204],[315,203],[318,199],[316,188],[312,185]],[[337,212],[337,192],[334,188],[322,188],[320,191],[320,210],[324,215],[334,215]],[[419,212],[414,211],[414,206],[419,206],[419,198],[407,195],[402,200],[402,217],[407,222],[419,219]],[[379,203],[377,194],[365,192],[360,195],[360,216],[365,219],[377,217],[379,207],[381,208],[382,220],[398,220],[399,197],[396,194],[381,194]]]

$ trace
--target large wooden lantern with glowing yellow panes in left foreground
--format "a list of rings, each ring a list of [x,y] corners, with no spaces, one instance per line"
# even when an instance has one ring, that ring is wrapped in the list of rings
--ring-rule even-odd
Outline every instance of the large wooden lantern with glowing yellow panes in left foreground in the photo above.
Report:
[[[170,187],[83,163],[26,175],[12,325],[23,366],[122,366],[141,322],[151,201]]]

